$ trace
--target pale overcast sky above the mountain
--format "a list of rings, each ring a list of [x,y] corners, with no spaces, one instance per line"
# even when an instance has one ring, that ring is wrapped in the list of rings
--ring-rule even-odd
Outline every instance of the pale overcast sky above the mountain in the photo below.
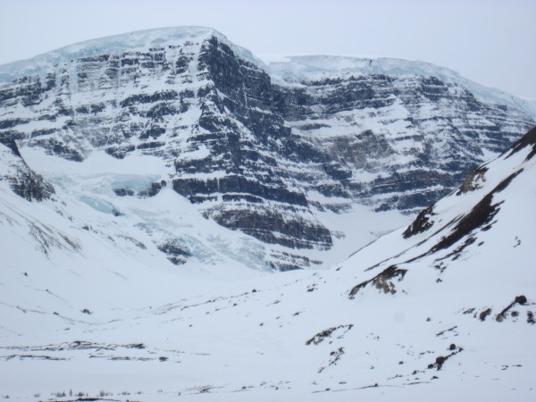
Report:
[[[181,25],[218,29],[261,59],[422,60],[536,99],[536,0],[0,0],[0,64]]]

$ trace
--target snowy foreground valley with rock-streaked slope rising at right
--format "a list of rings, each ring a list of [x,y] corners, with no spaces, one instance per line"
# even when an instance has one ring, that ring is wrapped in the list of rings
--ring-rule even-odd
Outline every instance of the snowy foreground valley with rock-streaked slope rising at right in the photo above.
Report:
[[[99,264],[71,253],[70,270],[46,259],[8,265],[2,395],[532,400],[535,156],[532,129],[408,226],[329,270],[244,269],[239,276],[252,277],[214,281],[141,261],[116,259],[109,269],[113,247],[101,247],[108,255]],[[9,221],[4,210],[0,217],[3,227],[29,221],[22,213]],[[46,247],[49,231],[40,228]],[[86,231],[84,242],[102,246]]]

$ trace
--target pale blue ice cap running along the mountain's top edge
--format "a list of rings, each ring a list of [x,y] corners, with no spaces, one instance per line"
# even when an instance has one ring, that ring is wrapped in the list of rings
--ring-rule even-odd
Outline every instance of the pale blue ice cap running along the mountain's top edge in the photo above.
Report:
[[[473,80],[465,79],[455,70],[437,64],[386,56],[360,57],[335,54],[284,55],[281,56],[281,58],[286,59],[286,62],[265,63],[261,59],[255,57],[255,55],[246,48],[231,42],[217,29],[203,26],[143,29],[123,34],[114,34],[103,38],[83,40],[71,45],[53,49],[43,54],[38,54],[29,59],[0,64],[0,82],[15,80],[24,75],[39,74],[46,69],[50,70],[54,65],[77,58],[90,57],[96,54],[109,54],[113,51],[147,49],[165,43],[172,44],[183,42],[188,39],[208,38],[210,36],[214,36],[230,46],[233,52],[238,54],[239,57],[251,63],[255,63],[258,67],[269,71],[274,80],[285,81],[285,78],[287,78],[287,81],[289,79],[299,79],[299,75],[296,76],[297,69],[300,69],[299,66],[302,66],[302,68],[303,66],[314,66],[317,69],[317,72],[329,76],[338,75],[335,73],[336,71],[338,73],[344,71],[346,74],[415,73],[417,75],[433,75],[440,76],[449,81],[463,82],[468,88],[471,88],[477,96],[487,97],[487,100],[507,102],[510,105],[522,108],[524,112],[531,113],[533,117],[536,117],[536,105],[534,105],[533,101],[531,102],[518,96],[512,96],[503,90],[484,87]],[[322,62],[322,60],[324,63],[321,67],[318,65],[318,62]],[[331,67],[325,63],[326,61],[331,62],[328,63],[331,64]],[[292,66],[292,64],[296,65]],[[309,71],[309,73],[311,72],[312,71]],[[302,78],[310,79],[311,77],[303,76]]]

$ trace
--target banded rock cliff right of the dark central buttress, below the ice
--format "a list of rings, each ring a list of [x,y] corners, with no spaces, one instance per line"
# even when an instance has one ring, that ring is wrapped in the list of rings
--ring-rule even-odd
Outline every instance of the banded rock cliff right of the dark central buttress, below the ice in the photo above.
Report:
[[[300,79],[278,88],[276,104],[294,132],[351,172],[341,182],[352,198],[378,210],[431,204],[534,124],[433,76],[361,74]]]

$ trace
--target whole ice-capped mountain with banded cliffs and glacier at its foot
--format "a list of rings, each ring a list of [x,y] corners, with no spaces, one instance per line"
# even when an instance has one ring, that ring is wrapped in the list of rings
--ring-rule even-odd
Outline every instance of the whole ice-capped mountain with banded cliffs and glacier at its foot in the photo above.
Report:
[[[149,259],[207,270],[335,264],[448,194],[536,116],[431,64],[265,65],[197,27],[67,46],[0,66],[0,80],[0,143],[54,187],[43,208],[98,213],[66,222],[70,239],[100,227],[110,247],[127,236]],[[180,212],[160,220],[164,198]]]

